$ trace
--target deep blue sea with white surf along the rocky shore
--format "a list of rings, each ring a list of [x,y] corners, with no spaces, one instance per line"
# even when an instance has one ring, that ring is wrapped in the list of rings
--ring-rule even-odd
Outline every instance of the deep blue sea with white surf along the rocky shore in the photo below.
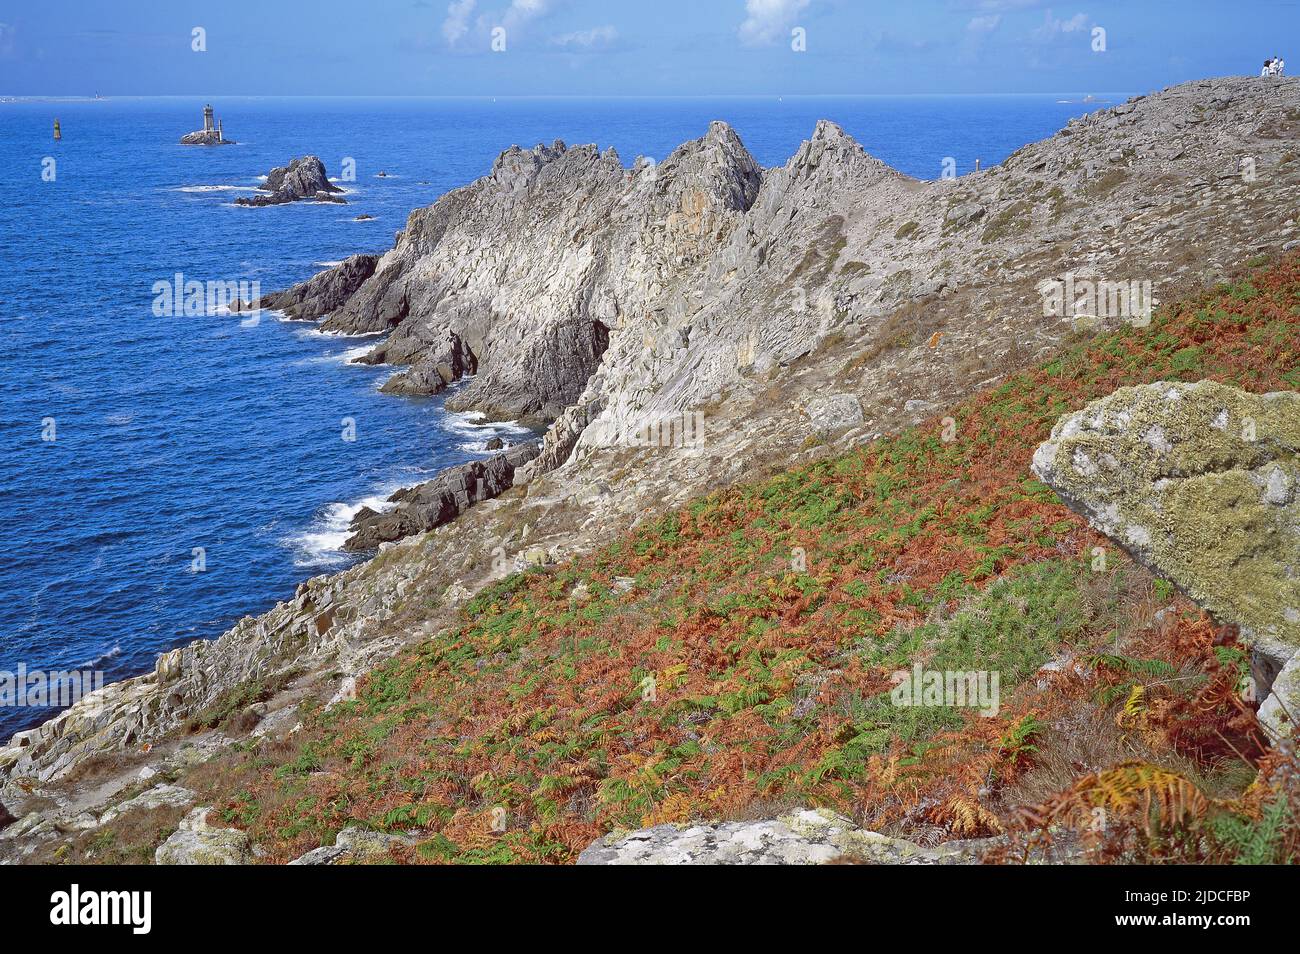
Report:
[[[1100,105],[1063,99],[216,99],[238,142],[222,147],[178,144],[198,99],[0,101],[0,671],[144,672],[346,567],[361,504],[521,432],[380,394],[393,369],[350,364],[373,339],[160,317],[156,282],[269,292],[384,251],[514,143],[612,144],[630,164],[723,118],[779,165],[824,117],[937,178],[945,157],[1001,161]],[[347,205],[234,204],[307,153]],[[0,708],[0,737],[51,714]]]

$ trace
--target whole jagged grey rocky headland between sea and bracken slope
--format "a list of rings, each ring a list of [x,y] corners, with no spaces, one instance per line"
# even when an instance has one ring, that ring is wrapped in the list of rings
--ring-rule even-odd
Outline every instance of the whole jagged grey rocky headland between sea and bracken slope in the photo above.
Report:
[[[1043,281],[1148,279],[1171,299],[1294,247],[1297,134],[1300,83],[1222,79],[1072,121],[956,181],[901,175],[832,122],[776,169],[724,123],[630,168],[594,146],[506,151],[413,212],[393,250],[261,304],[390,331],[369,356],[406,365],[389,391],[472,374],[450,406],[547,425],[516,489],[22,733],[0,750],[0,802],[26,812],[5,831],[57,837],[57,819],[94,815],[74,785],[90,756],[120,763],[98,789],[112,798],[126,768],[191,758],[186,721],[226,725],[237,707],[287,732],[300,698],[446,625],[486,580],[1030,364],[1076,333],[1044,317]],[[703,421],[688,446],[629,437],[680,415]]]

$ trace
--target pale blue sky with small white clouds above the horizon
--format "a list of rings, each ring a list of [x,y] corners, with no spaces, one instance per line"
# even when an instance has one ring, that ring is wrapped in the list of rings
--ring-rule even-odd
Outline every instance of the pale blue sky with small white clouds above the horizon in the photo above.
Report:
[[[1134,92],[1300,70],[1297,26],[1283,0],[0,0],[0,94]]]

